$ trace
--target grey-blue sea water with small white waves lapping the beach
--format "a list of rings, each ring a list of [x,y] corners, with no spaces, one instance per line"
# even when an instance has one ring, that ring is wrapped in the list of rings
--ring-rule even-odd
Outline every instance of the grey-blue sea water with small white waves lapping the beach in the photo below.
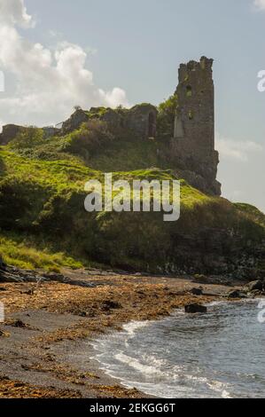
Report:
[[[105,373],[155,397],[265,397],[265,324],[259,301],[212,303],[131,322],[94,342]]]

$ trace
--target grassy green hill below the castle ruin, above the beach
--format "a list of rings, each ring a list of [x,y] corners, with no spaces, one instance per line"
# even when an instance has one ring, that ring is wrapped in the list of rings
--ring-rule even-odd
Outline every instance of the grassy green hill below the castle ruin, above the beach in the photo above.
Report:
[[[102,123],[65,137],[31,128],[0,148],[0,253],[9,264],[58,271],[105,264],[132,271],[249,275],[263,268],[265,216],[209,197],[182,180],[181,218],[162,213],[87,213],[84,184],[174,179],[158,166],[159,144]],[[122,144],[122,146],[121,146]],[[158,167],[158,168],[154,168]]]

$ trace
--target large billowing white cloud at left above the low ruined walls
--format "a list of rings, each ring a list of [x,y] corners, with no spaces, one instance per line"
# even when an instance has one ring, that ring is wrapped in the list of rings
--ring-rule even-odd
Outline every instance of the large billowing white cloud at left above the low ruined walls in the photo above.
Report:
[[[24,0],[0,0],[0,14],[0,67],[15,80],[14,92],[0,98],[4,122],[51,124],[75,105],[129,106],[124,90],[105,91],[93,83],[81,46],[63,42],[53,50],[19,34],[17,26],[33,26]]]

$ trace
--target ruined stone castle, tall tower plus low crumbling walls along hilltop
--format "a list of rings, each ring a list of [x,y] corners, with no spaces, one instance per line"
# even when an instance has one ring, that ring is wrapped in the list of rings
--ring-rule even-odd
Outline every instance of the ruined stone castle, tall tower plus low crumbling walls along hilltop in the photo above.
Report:
[[[202,57],[179,67],[179,84],[175,90],[175,121],[172,133],[163,141],[157,133],[158,109],[151,104],[130,109],[77,107],[74,114],[58,127],[43,128],[44,137],[61,136],[79,129],[83,122],[99,119],[117,130],[131,131],[140,140],[156,139],[158,165],[176,173],[204,193],[221,195],[216,181],[219,154],[214,149],[214,81],[213,59]],[[6,125],[0,134],[0,145],[7,145],[20,127]],[[173,133],[174,132],[174,133]],[[163,163],[160,163],[163,161]]]

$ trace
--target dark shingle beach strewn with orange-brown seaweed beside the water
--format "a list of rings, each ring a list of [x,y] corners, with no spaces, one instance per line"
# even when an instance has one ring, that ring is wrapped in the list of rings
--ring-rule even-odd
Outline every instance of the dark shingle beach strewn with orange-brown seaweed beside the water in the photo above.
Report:
[[[89,359],[91,342],[130,321],[168,317],[188,303],[226,301],[230,290],[240,288],[197,284],[192,277],[64,274],[77,284],[0,284],[6,311],[0,324],[0,397],[149,397],[126,389],[97,359]],[[203,295],[192,295],[192,288],[202,288]]]

